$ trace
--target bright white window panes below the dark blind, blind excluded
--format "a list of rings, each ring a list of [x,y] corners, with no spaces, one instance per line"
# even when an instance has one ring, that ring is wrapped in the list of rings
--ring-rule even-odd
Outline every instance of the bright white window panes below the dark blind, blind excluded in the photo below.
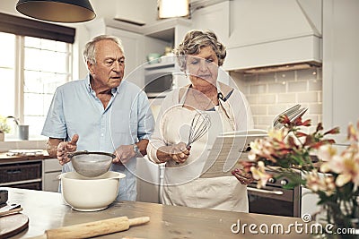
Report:
[[[71,44],[3,32],[0,42],[0,115],[16,115],[39,135],[57,86],[70,79]]]

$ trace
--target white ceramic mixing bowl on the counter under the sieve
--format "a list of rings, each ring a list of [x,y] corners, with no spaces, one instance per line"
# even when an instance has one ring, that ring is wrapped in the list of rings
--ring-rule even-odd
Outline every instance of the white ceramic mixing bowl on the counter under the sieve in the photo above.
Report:
[[[118,196],[120,179],[126,175],[109,171],[98,177],[84,177],[76,172],[60,175],[64,201],[72,209],[95,211],[106,209]]]

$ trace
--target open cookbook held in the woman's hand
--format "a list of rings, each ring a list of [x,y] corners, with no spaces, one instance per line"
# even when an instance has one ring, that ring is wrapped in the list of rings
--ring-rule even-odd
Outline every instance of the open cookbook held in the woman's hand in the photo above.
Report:
[[[301,107],[301,105],[290,107],[275,117],[272,126],[276,129],[284,126],[279,123],[280,115],[287,115],[291,121],[294,121],[304,115],[307,110],[308,108]],[[210,152],[200,177],[232,175],[234,168],[241,167],[239,165],[241,158],[247,159],[250,152],[250,142],[266,136],[267,131],[259,129],[223,132],[217,135],[212,149],[208,149]]]

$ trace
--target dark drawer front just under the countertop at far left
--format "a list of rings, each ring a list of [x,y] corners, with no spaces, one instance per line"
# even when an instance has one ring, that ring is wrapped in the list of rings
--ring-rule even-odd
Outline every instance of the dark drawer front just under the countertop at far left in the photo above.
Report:
[[[0,183],[41,178],[41,162],[25,162],[0,166]]]

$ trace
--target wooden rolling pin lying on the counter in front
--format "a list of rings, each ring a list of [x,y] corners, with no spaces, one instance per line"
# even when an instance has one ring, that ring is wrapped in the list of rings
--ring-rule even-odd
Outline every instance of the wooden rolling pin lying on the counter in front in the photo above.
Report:
[[[127,217],[109,218],[105,220],[64,226],[57,229],[48,229],[44,235],[32,237],[32,239],[73,239],[89,238],[98,235],[107,235],[128,230],[129,226],[137,226],[150,221],[149,217],[132,218]]]

